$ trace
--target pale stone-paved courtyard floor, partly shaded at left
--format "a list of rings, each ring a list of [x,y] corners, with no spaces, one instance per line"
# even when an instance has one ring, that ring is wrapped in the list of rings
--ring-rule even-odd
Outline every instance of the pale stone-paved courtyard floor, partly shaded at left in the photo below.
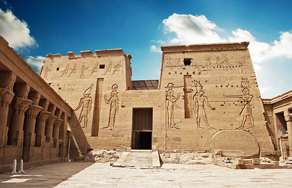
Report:
[[[212,164],[136,169],[59,162],[25,171],[0,174],[0,187],[292,187],[292,169],[230,169]]]

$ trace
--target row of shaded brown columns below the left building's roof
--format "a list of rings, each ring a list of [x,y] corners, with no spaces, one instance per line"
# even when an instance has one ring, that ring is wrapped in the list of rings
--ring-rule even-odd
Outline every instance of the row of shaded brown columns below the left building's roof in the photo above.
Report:
[[[57,159],[64,112],[12,71],[0,71],[0,165]],[[62,131],[61,137],[64,135]]]

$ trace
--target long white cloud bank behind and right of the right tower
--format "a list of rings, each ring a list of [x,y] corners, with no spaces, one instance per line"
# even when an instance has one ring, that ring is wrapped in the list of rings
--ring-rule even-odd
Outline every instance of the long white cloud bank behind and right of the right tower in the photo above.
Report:
[[[232,31],[228,38],[221,37],[221,30],[204,15],[173,14],[163,20],[164,33],[169,38],[168,44],[200,44],[250,41],[249,51],[254,63],[261,63],[271,58],[286,57],[292,59],[292,31],[280,32],[279,41],[272,44],[259,42],[252,34],[243,29]],[[260,68],[259,66],[257,68]]]

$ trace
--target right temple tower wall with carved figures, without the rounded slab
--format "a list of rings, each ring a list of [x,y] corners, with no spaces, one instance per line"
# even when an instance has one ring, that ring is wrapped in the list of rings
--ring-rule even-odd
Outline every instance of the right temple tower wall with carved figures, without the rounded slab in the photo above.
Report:
[[[167,149],[210,149],[216,131],[243,129],[256,137],[260,150],[274,150],[248,44],[162,47],[159,84],[170,106]]]

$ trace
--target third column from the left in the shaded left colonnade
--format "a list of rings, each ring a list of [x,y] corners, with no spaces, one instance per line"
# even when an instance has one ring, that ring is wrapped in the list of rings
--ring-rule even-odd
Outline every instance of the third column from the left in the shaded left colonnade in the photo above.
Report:
[[[22,158],[24,162],[32,161],[33,148],[35,145],[35,125],[36,116],[43,109],[38,106],[40,100],[40,93],[31,92],[28,96],[33,101],[28,110],[26,111],[26,119],[24,123],[24,144]]]

